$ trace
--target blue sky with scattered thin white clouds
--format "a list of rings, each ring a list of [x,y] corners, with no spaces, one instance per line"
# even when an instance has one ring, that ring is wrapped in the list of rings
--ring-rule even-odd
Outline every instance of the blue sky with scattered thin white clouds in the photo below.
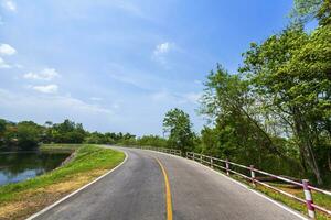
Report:
[[[199,132],[206,75],[236,73],[292,0],[0,0],[0,118],[162,135],[180,108]]]

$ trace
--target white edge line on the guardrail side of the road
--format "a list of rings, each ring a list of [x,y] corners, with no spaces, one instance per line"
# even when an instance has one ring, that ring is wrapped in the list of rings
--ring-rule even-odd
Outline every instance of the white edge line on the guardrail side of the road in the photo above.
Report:
[[[134,150],[135,150],[135,148],[134,148]],[[138,148],[138,150],[141,150],[141,148]],[[143,148],[142,148],[142,150],[143,150]],[[259,193],[259,191],[256,191],[256,190],[249,188],[247,185],[245,185],[245,184],[243,184],[243,183],[241,183],[241,182],[238,182],[238,180],[236,180],[236,179],[233,179],[233,178],[231,178],[231,177],[228,177],[228,176],[222,174],[221,172],[217,172],[217,170],[215,170],[215,169],[213,169],[213,168],[211,168],[211,167],[209,167],[209,166],[206,166],[206,165],[204,165],[204,164],[201,164],[201,163],[199,163],[199,162],[196,162],[196,161],[193,161],[193,160],[190,160],[190,158],[185,158],[185,157],[182,157],[182,156],[178,156],[178,155],[167,154],[167,153],[163,153],[163,152],[157,152],[157,151],[152,151],[152,150],[145,150],[145,151],[156,152],[156,153],[159,153],[159,154],[164,154],[164,155],[173,156],[173,157],[177,157],[177,158],[180,157],[180,158],[190,161],[190,162],[192,162],[192,163],[196,163],[196,164],[199,164],[199,165],[201,165],[201,166],[204,166],[204,167],[211,169],[212,172],[214,172],[214,173],[216,173],[216,174],[218,174],[218,175],[221,175],[221,176],[227,178],[228,180],[231,180],[231,182],[233,182],[233,183],[236,183],[237,185],[239,185],[239,186],[242,186],[242,187],[244,187],[244,188],[250,190],[252,193],[254,193],[254,194],[256,194],[256,195],[258,195],[258,196],[260,196],[260,197],[267,199],[268,201],[271,201],[271,202],[275,204],[276,206],[282,208],[284,210],[286,210],[286,211],[288,211],[288,212],[290,212],[290,213],[292,213],[292,215],[295,215],[295,216],[297,216],[298,218],[303,219],[303,220],[309,220],[307,217],[303,217],[303,216],[302,216],[301,213],[299,213],[298,211],[296,211],[296,210],[293,210],[293,209],[291,209],[291,208],[289,208],[289,207],[287,207],[287,206],[285,206],[285,205],[282,205],[282,204],[280,204],[280,202],[278,202],[278,201],[271,199],[270,197],[268,197],[268,196],[266,196],[266,195],[264,195],[264,194],[261,194],[261,193]]]

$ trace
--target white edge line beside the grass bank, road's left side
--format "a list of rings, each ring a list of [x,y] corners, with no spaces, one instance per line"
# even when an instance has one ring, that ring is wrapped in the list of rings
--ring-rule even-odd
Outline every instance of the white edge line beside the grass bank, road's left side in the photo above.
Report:
[[[42,213],[49,211],[50,209],[52,209],[52,208],[54,208],[55,206],[60,205],[61,202],[65,201],[65,200],[68,199],[70,197],[72,197],[72,196],[78,194],[79,191],[84,190],[84,189],[87,188],[88,186],[90,186],[90,185],[93,185],[94,183],[100,180],[102,178],[104,178],[104,177],[107,176],[108,174],[115,172],[115,170],[116,170],[117,168],[119,168],[124,163],[126,163],[126,161],[127,161],[128,157],[129,157],[129,155],[127,154],[127,152],[125,152],[125,151],[122,151],[122,152],[125,153],[126,158],[125,158],[120,164],[118,164],[117,166],[115,166],[114,168],[111,168],[111,169],[110,169],[109,172],[107,172],[106,174],[104,174],[104,175],[99,176],[98,178],[94,179],[93,182],[90,182],[90,183],[84,185],[83,187],[78,188],[77,190],[71,193],[70,195],[63,197],[62,199],[55,201],[54,204],[52,204],[52,205],[45,207],[44,209],[40,210],[39,212],[36,212],[36,213],[34,213],[34,215],[32,215],[31,217],[29,217],[29,218],[25,219],[25,220],[32,220],[32,219],[34,219],[34,218],[41,216]]]

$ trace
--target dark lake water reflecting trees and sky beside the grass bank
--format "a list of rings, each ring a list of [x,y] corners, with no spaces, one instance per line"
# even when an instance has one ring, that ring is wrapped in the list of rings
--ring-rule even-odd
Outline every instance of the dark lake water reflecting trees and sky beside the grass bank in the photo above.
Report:
[[[70,156],[60,152],[0,153],[0,186],[52,170]]]

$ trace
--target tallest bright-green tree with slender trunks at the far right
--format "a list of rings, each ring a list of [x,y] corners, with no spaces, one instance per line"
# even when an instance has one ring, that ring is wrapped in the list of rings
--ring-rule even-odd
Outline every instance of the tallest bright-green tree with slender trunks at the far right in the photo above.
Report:
[[[311,35],[302,28],[287,29],[261,45],[252,44],[241,68],[264,100],[264,110],[289,129],[287,138],[299,147],[303,168],[308,165],[319,184],[321,140],[329,139],[322,148],[330,148],[330,38],[328,25]]]

